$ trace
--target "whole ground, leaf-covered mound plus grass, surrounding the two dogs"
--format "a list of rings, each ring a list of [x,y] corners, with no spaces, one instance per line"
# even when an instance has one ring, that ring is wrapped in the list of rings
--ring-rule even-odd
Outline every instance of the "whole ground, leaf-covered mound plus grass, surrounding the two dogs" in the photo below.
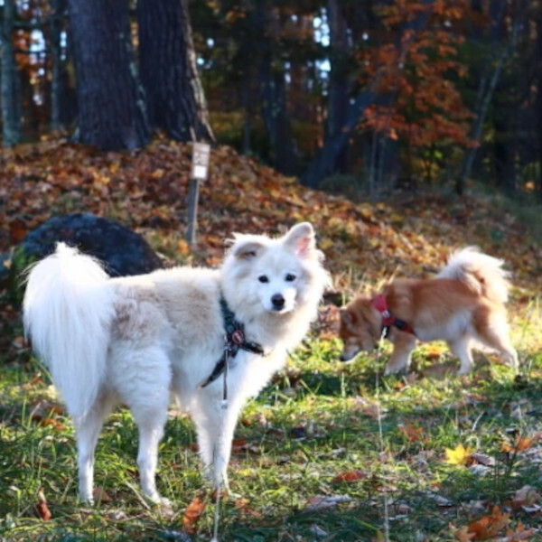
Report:
[[[453,248],[478,245],[512,272],[514,378],[491,356],[455,378],[439,343],[405,377],[379,378],[378,356],[338,361],[337,308],[322,306],[288,368],[245,410],[221,500],[223,540],[540,540],[542,254],[509,201],[395,194],[376,204],[309,191],[229,147],[213,149],[201,186],[198,243],[184,241],[191,148],[165,140],[137,154],[61,141],[0,154],[0,252],[52,214],[90,211],[142,233],[172,263],[214,266],[232,231],[276,233],[313,222],[337,295],[397,276],[430,276]],[[5,259],[9,266],[9,257]],[[5,297],[3,297],[5,299]],[[5,540],[206,540],[213,497],[190,421],[172,411],[159,485],[173,509],[142,500],[136,432],[121,410],[98,444],[94,509],[76,499],[72,426],[0,305],[0,536]]]

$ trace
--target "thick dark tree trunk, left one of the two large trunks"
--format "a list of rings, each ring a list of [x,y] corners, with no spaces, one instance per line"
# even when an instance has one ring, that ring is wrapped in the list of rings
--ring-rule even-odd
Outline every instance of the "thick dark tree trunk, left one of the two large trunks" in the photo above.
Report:
[[[77,79],[75,139],[104,150],[149,142],[136,81],[127,0],[68,0]]]

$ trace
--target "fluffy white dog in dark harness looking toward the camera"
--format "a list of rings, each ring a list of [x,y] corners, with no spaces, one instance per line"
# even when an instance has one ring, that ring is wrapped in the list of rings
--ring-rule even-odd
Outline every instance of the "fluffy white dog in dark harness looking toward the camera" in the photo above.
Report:
[[[61,243],[33,266],[24,327],[74,420],[80,499],[92,501],[98,434],[122,402],[139,429],[142,490],[161,501],[154,474],[170,392],[195,422],[211,481],[227,487],[239,412],[284,367],[329,280],[308,222],[282,238],[236,234],[220,269],[109,278]]]

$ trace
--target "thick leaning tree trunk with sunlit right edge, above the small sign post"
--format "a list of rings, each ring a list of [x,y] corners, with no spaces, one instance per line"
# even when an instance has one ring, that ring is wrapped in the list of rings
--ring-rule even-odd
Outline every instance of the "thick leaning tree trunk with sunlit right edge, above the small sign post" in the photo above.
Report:
[[[214,141],[187,0],[138,0],[137,22],[150,125],[178,141]]]

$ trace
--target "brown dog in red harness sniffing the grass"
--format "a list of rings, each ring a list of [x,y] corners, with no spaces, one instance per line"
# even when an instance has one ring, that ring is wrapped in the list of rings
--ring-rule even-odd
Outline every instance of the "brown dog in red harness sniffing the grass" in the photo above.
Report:
[[[505,306],[508,273],[502,265],[477,248],[463,248],[435,278],[395,279],[381,294],[360,295],[341,309],[341,360],[373,350],[385,332],[394,345],[386,374],[408,368],[416,340],[446,341],[461,361],[458,374],[472,370],[476,342],[497,350],[517,370]]]

